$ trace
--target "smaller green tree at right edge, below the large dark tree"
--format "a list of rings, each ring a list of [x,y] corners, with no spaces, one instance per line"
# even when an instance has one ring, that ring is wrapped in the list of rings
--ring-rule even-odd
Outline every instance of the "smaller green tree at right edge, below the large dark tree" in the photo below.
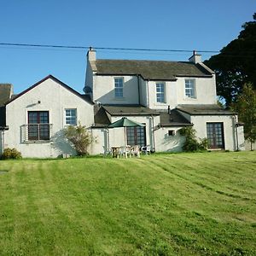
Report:
[[[252,84],[244,84],[242,93],[233,104],[234,110],[239,113],[239,119],[244,123],[245,139],[252,144],[256,141],[256,90]]]

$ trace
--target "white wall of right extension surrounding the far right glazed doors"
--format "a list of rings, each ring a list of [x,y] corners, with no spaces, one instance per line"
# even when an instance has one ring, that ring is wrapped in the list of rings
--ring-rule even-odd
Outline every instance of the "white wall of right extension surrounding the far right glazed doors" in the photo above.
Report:
[[[194,124],[196,137],[207,137],[207,122],[223,122],[224,124],[224,146],[225,150],[236,151],[236,126],[235,120],[231,115],[212,115],[212,116],[191,116],[191,122]],[[239,149],[244,150],[244,137],[242,127],[238,129]]]

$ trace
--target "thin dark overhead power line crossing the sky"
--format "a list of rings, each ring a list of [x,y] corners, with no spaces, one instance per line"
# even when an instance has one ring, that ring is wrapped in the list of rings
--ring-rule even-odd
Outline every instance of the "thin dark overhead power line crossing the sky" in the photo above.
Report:
[[[59,48],[59,49],[110,49],[110,50],[133,50],[133,51],[154,51],[154,52],[193,52],[192,49],[139,49],[139,48],[116,48],[116,47],[91,47],[91,46],[74,46],[74,45],[54,45],[54,44],[14,44],[0,43],[3,46],[21,46],[21,47],[38,47],[38,48]],[[201,53],[219,53],[219,50],[196,50]]]

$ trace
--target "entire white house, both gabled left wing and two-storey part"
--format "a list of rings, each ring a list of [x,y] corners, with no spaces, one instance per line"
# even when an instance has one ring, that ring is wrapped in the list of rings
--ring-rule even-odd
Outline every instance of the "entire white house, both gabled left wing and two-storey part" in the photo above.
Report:
[[[9,99],[0,108],[0,150],[17,148],[24,157],[75,154],[62,130],[78,122],[96,137],[90,154],[125,144],[181,151],[178,131],[191,125],[210,149],[244,149],[243,127],[236,113],[218,107],[215,74],[196,53],[189,61],[98,60],[90,49],[84,93],[48,76]],[[122,117],[145,126],[108,129]]]

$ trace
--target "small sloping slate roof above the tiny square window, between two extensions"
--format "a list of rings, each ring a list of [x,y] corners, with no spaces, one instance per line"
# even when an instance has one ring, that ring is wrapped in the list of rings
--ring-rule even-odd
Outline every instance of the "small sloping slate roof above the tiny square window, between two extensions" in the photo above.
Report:
[[[176,109],[172,109],[171,113],[160,113],[160,125],[161,126],[189,126],[192,125],[187,119],[185,119]]]

